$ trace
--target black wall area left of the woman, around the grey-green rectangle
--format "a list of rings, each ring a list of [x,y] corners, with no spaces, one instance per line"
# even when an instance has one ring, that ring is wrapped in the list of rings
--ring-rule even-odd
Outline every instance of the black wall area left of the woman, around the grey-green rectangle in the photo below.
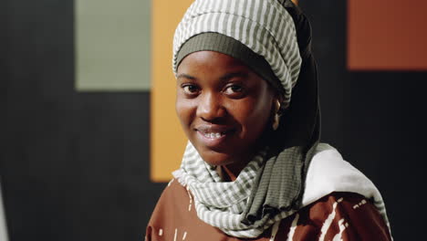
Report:
[[[5,6],[11,240],[141,240],[164,186],[148,178],[150,94],[75,91],[73,1]]]

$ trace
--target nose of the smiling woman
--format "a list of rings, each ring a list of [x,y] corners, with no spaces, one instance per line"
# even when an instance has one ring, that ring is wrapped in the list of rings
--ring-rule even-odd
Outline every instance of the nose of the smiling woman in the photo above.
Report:
[[[215,121],[223,118],[225,115],[226,110],[219,94],[205,93],[200,97],[197,116],[202,118],[203,121]]]

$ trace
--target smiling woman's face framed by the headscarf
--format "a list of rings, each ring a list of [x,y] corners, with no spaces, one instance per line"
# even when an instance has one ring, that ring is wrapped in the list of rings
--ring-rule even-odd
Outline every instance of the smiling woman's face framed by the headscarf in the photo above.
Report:
[[[177,70],[178,118],[203,160],[212,165],[243,168],[250,161],[257,141],[270,128],[274,99],[266,80],[218,52],[194,52]]]

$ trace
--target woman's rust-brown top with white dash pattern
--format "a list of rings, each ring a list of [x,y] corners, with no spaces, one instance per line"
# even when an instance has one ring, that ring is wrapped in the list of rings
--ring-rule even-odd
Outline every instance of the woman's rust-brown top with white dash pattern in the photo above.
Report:
[[[172,180],[161,194],[146,232],[146,240],[391,240],[377,209],[354,193],[332,193],[268,228],[255,239],[225,235],[197,217],[193,196]]]

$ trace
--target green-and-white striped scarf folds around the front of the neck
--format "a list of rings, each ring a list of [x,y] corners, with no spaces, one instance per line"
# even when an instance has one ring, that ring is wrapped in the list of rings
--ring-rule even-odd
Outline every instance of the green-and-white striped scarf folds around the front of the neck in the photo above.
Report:
[[[247,222],[245,216],[251,206],[250,197],[265,156],[265,151],[255,155],[234,182],[222,182],[215,167],[203,162],[189,142],[181,169],[173,172],[173,176],[192,192],[197,215],[205,223],[220,228],[230,236],[256,237],[276,221],[295,212],[286,210],[275,215],[264,215],[255,223]]]

